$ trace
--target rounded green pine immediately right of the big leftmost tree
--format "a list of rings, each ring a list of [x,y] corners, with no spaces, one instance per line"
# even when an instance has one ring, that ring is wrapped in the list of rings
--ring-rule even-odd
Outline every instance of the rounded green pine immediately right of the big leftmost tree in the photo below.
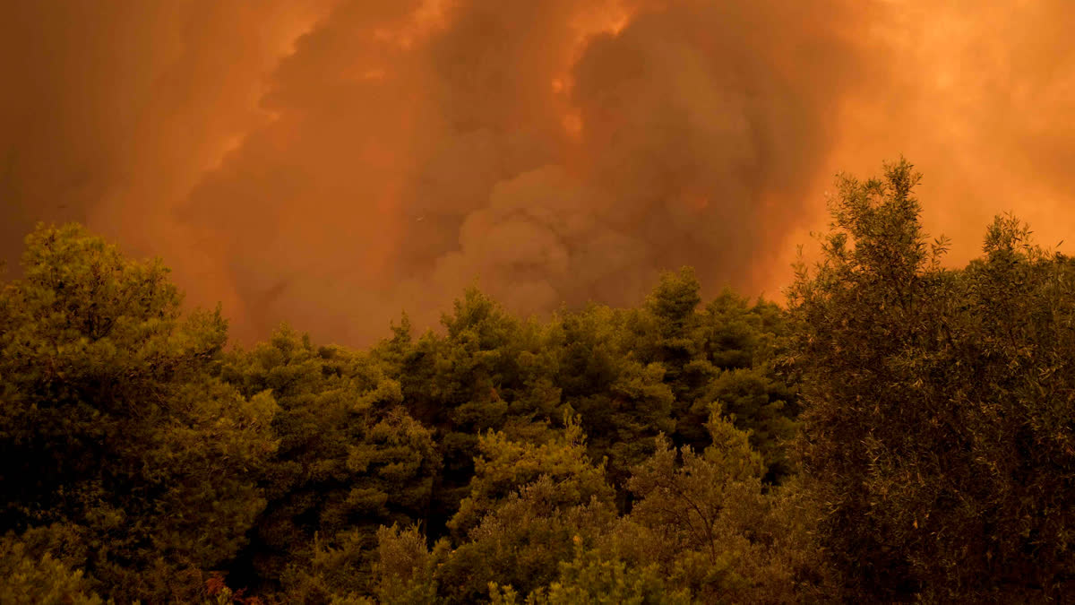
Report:
[[[281,408],[272,422],[280,447],[261,481],[268,505],[233,565],[239,581],[302,587],[301,599],[289,595],[298,601],[369,592],[378,527],[425,519],[441,468],[400,384],[370,356],[315,347],[287,326],[229,355],[221,375],[248,396],[271,393]]]

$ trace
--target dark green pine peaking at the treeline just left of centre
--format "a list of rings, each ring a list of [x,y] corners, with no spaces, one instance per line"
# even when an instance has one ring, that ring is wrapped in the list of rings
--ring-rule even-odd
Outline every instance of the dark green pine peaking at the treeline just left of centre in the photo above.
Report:
[[[563,410],[540,325],[519,322],[475,289],[441,321],[446,336],[414,341],[404,319],[373,351],[400,382],[406,409],[434,432],[444,461],[426,520],[433,536],[467,497],[479,435],[503,431],[540,442]]]

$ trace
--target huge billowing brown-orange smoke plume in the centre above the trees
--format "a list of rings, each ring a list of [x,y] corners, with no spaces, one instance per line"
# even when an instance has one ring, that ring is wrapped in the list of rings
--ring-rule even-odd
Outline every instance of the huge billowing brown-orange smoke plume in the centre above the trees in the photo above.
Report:
[[[766,196],[806,195],[859,60],[835,2],[633,5],[589,31],[616,6],[418,9],[340,4],[274,74],[276,121],[191,196],[256,322],[316,309],[361,340],[475,280],[524,313],[631,304],[684,264],[746,285],[798,214]]]

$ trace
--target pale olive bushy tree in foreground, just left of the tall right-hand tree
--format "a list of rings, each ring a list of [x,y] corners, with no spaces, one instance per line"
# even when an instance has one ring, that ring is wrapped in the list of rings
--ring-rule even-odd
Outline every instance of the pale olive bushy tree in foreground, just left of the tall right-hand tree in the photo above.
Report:
[[[817,601],[826,572],[809,500],[794,483],[763,488],[762,456],[719,408],[706,428],[702,452],[658,439],[628,483],[631,513],[603,548],[634,568],[656,567],[696,602]]]

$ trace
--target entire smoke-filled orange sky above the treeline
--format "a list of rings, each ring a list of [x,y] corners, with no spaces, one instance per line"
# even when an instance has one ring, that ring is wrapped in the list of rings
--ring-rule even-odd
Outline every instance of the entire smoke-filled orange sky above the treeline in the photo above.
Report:
[[[1075,233],[1069,0],[42,0],[0,8],[0,257],[76,220],[233,334],[366,344],[478,283],[778,297],[837,171],[927,229]],[[1065,247],[1066,248],[1066,247]]]

